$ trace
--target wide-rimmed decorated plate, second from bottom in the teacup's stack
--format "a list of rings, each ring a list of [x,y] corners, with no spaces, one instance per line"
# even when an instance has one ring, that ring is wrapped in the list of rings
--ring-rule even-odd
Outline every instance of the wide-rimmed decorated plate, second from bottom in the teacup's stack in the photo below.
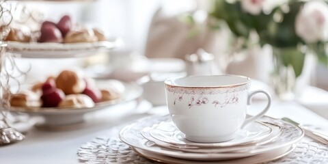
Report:
[[[254,156],[256,154],[263,154],[273,152],[279,148],[290,147],[292,144],[297,143],[303,138],[304,133],[298,126],[284,122],[282,120],[267,119],[266,122],[271,124],[278,124],[282,127],[282,133],[274,141],[260,146],[251,146],[242,152],[224,152],[224,153],[195,153],[195,152],[182,152],[180,150],[173,150],[163,148],[156,145],[154,142],[145,139],[140,134],[143,128],[159,124],[163,121],[170,121],[169,115],[161,117],[150,117],[139,120],[133,124],[129,124],[122,128],[120,131],[120,139],[133,148],[146,150],[154,154],[163,156],[171,156],[178,159],[198,160],[198,161],[219,161],[228,159],[238,159],[247,156]]]

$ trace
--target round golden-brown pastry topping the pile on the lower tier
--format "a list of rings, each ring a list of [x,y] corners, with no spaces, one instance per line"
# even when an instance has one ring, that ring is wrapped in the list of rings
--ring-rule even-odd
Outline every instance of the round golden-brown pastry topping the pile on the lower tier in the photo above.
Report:
[[[55,80],[57,88],[65,94],[81,94],[85,90],[85,80],[81,72],[63,70]]]

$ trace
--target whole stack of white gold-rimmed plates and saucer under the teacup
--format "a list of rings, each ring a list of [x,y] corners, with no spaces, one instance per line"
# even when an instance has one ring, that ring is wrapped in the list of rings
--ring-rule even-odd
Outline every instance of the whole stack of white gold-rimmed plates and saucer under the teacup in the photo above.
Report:
[[[298,126],[268,117],[220,143],[188,141],[169,115],[144,118],[120,131],[135,152],[163,163],[262,163],[292,152],[303,136]]]

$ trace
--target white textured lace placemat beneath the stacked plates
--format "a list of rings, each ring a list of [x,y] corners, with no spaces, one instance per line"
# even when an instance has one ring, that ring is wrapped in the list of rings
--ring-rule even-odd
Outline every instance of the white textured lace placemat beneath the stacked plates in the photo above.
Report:
[[[111,128],[108,135],[96,137],[93,141],[85,143],[77,151],[79,161],[86,164],[96,163],[127,163],[148,164],[157,163],[145,159],[135,153],[126,143],[118,138],[118,133],[123,126]],[[318,164],[328,163],[328,146],[308,138],[303,138],[297,148],[287,156],[271,161],[268,164]]]

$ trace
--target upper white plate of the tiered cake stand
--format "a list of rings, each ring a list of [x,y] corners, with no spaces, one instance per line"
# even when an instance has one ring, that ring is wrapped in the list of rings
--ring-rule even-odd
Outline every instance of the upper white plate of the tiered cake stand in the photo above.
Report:
[[[40,43],[40,42],[13,42],[8,41],[8,52],[16,57],[24,58],[66,58],[84,57],[94,55],[102,51],[122,46],[120,38],[112,38],[102,42],[81,42],[81,43]]]

